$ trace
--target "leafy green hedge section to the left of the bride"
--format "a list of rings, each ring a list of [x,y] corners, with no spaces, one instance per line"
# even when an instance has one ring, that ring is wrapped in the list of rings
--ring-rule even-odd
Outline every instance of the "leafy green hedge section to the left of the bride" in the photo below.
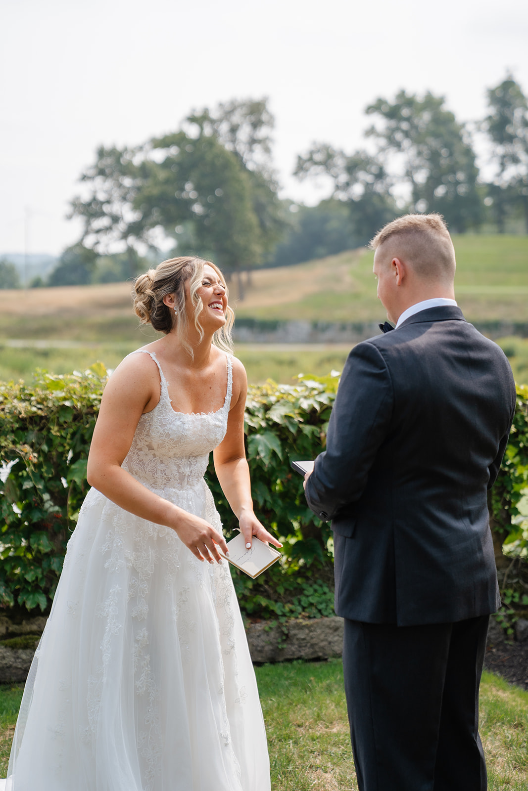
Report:
[[[87,490],[104,366],[0,385],[0,603],[45,611]]]

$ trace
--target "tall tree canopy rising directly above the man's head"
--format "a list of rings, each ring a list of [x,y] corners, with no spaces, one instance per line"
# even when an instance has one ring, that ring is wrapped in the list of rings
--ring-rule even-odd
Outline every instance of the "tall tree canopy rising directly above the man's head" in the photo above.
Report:
[[[475,153],[442,97],[400,91],[393,102],[376,100],[367,114],[374,116],[367,130],[373,153],[319,144],[298,157],[295,171],[301,178],[330,177],[333,196],[349,202],[360,240],[402,210],[438,211],[459,233],[481,223]]]

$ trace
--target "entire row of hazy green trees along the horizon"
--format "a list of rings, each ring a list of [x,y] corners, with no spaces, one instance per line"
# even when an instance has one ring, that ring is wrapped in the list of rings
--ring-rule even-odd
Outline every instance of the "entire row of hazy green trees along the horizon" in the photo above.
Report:
[[[313,142],[298,156],[294,175],[326,187],[318,206],[279,198],[265,97],[202,108],[138,146],[100,146],[71,202],[81,237],[45,278],[28,277],[24,258],[23,285],[117,282],[161,255],[197,254],[236,273],[242,294],[241,271],[358,247],[409,211],[439,212],[454,233],[528,233],[528,101],[511,74],[487,97],[488,115],[466,123],[430,91],[377,97],[361,149]],[[0,289],[15,287],[6,263]]]

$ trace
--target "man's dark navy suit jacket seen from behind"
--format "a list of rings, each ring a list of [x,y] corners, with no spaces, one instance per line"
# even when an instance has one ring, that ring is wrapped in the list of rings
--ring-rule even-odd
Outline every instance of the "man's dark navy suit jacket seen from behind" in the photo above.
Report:
[[[487,490],[514,410],[507,358],[459,308],[351,350],[306,485],[332,520],[337,615],[407,626],[496,611]]]

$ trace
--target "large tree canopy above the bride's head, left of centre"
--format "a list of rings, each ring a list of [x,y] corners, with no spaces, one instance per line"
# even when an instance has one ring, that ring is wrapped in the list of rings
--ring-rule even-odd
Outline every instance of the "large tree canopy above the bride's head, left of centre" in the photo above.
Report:
[[[165,237],[226,271],[252,268],[285,227],[269,159],[272,126],[265,100],[233,101],[135,149],[101,147],[82,175],[88,198],[72,202],[83,244],[137,250]]]

